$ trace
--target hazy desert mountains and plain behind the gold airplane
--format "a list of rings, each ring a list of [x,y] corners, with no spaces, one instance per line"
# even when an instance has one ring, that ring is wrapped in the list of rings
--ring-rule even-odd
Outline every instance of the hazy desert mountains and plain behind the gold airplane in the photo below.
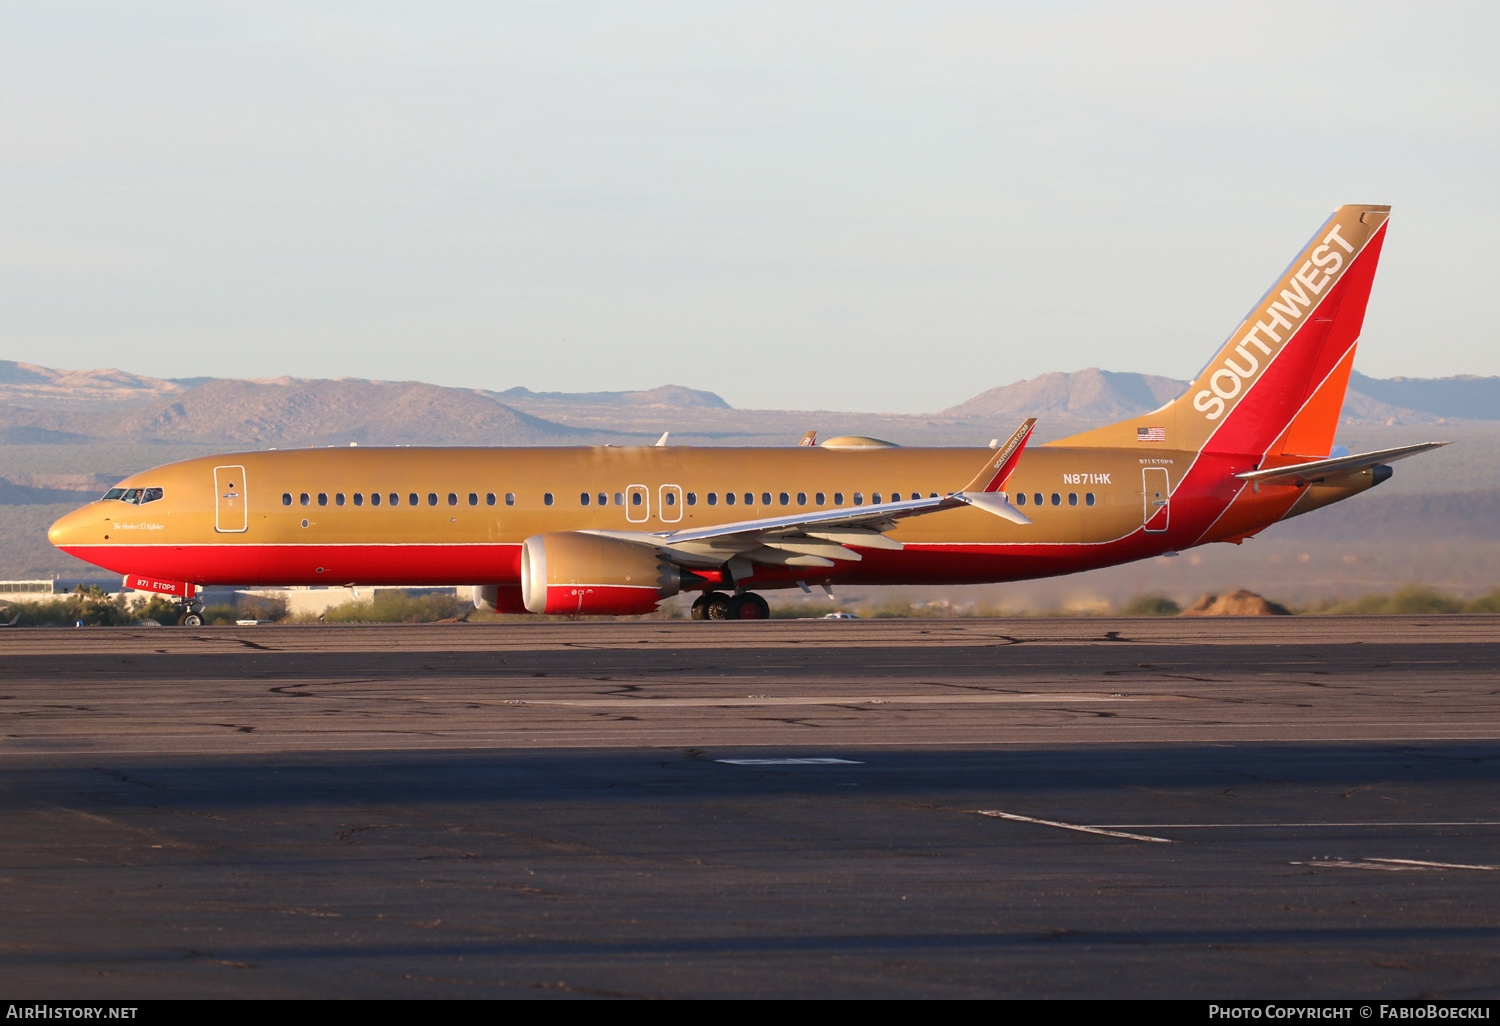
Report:
[[[358,378],[164,380],[0,362],[0,576],[108,576],[52,549],[46,525],[124,474],[212,452],[351,441],[651,444],[663,430],[672,432],[674,442],[792,446],[810,428],[822,438],[868,434],[906,444],[982,446],[1029,416],[1041,418],[1038,440],[1046,441],[1146,412],[1185,384],[1090,368],[1044,374],[912,416],[735,410],[711,392],[678,386],[489,392]],[[1500,378],[1356,374],[1341,441],[1362,448],[1428,436],[1460,444],[1401,464],[1377,501],[1360,498],[1276,525],[1256,546],[1245,546],[1252,550],[1210,546],[1215,552],[1203,555],[1206,562],[1197,570],[1197,552],[1156,561],[1162,566],[1152,566],[1152,586],[1180,591],[1185,600],[1203,590],[1245,585],[1290,598],[1346,582],[1352,590],[1420,580],[1466,594],[1488,591],[1500,573],[1500,416],[1494,410],[1500,410]],[[1443,420],[1448,426],[1431,426]],[[1466,543],[1455,546],[1454,538]],[[1236,552],[1218,552],[1227,549]],[[1212,570],[1221,562],[1222,570]],[[1089,579],[1113,580],[1108,586],[1120,594],[1136,594],[1146,586],[1140,574],[1138,567],[1124,567]],[[1071,586],[1062,582],[1047,591],[1032,582],[1014,594],[1046,604],[1047,596],[1064,596]]]

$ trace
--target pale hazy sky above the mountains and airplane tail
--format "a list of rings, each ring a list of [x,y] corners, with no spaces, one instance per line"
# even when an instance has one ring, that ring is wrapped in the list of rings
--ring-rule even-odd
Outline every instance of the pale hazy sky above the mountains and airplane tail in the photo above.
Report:
[[[1188,376],[1395,207],[1358,368],[1500,374],[1488,3],[0,4],[0,358],[933,411]]]

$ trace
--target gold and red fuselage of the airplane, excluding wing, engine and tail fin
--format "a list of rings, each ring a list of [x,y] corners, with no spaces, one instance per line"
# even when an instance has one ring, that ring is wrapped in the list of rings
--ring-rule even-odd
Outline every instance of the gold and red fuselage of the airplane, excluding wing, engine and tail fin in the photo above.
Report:
[[[50,537],[111,570],[162,572],[198,584],[416,584],[411,552],[398,549],[430,554],[423,566],[434,572],[417,574],[423,582],[510,584],[510,556],[501,550],[519,550],[534,534],[662,532],[945,495],[963,488],[988,454],[984,448],[610,446],[248,452],[134,474],[122,488],[160,488],[162,498],[141,506],[100,500],[60,519]],[[903,552],[780,578],[880,584],[1070,573],[1220,540],[1212,528],[1232,502],[1242,507],[1234,528],[1242,537],[1310,498],[1292,488],[1252,496],[1233,478],[1252,465],[1250,458],[1218,458],[1224,465],[1203,474],[1192,495],[1182,495],[1179,486],[1200,459],[1161,448],[1036,446],[1026,450],[1005,489],[1029,525],[968,507],[933,513],[902,520],[890,532]],[[1148,490],[1162,483],[1174,507],[1170,520],[1166,530],[1143,531],[1156,513]],[[1366,486],[1340,488],[1353,494]],[[486,555],[468,558],[464,550]],[[981,558],[1005,550],[1017,556],[1011,568]],[[333,556],[310,555],[324,552],[342,552],[342,562],[330,567],[324,564]],[[381,552],[390,556],[386,562]],[[924,554],[950,558],[939,566]],[[956,567],[951,556],[962,554],[974,560]],[[249,570],[254,574],[246,576]],[[762,580],[776,586],[776,578],[768,573]]]

